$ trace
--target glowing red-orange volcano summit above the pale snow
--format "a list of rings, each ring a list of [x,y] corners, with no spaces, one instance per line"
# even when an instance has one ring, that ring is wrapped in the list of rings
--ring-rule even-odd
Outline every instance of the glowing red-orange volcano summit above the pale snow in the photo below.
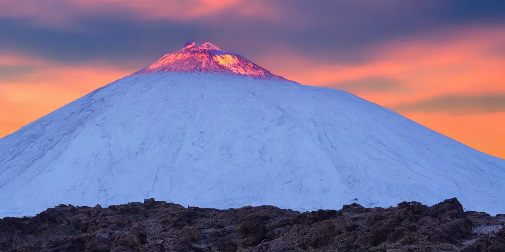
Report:
[[[205,42],[195,46],[195,42],[174,53],[166,54],[150,66],[134,73],[144,75],[166,72],[198,72],[250,76],[260,80],[287,80],[254,64],[245,57],[220,49]]]

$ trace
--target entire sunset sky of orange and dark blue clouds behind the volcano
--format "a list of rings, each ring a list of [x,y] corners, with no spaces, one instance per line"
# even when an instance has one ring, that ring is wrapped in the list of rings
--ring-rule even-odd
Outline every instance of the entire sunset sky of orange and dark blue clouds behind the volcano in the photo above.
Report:
[[[0,1],[0,137],[187,41],[210,41],[505,158],[504,3]]]

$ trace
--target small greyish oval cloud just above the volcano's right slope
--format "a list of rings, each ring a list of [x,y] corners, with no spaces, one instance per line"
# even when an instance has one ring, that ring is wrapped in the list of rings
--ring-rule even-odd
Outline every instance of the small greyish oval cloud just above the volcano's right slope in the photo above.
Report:
[[[401,82],[384,76],[370,76],[360,79],[352,79],[326,86],[357,94],[390,93],[398,92],[403,89]]]

